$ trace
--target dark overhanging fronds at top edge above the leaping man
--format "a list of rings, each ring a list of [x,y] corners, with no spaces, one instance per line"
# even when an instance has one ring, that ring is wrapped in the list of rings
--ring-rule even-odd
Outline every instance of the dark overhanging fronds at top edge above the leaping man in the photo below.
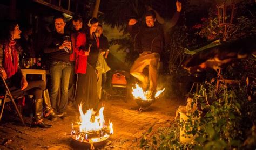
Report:
[[[123,28],[128,23],[129,19],[135,18],[140,21],[144,21],[143,14],[147,10],[147,6],[150,6],[156,10],[162,17],[170,17],[170,13],[174,12],[175,6],[174,0],[163,1],[143,1],[143,0],[106,0],[103,1],[106,7],[104,11],[104,20],[112,27]]]

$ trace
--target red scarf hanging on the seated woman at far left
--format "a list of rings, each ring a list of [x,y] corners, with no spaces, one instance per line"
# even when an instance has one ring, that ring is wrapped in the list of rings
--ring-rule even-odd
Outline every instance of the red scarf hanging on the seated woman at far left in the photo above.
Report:
[[[18,71],[18,52],[15,44],[16,41],[10,41],[4,48],[4,69],[7,78],[10,78]]]

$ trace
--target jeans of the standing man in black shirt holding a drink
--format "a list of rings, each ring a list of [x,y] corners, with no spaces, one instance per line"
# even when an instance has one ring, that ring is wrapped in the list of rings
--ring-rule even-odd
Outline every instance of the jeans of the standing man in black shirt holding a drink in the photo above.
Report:
[[[55,109],[57,112],[64,112],[66,109],[66,105],[68,104],[70,73],[71,73],[70,62],[62,62],[62,61],[50,62],[50,75],[52,80],[50,98],[51,98],[52,108]],[[57,99],[59,88],[60,88],[60,101]]]

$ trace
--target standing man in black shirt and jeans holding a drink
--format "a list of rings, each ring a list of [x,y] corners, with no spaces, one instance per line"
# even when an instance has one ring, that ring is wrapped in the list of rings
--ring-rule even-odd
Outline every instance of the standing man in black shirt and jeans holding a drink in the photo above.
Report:
[[[50,60],[50,76],[52,80],[50,98],[52,108],[58,112],[65,112],[68,104],[71,72],[70,54],[72,53],[72,46],[70,36],[64,32],[66,25],[64,20],[63,16],[54,18],[56,31],[53,31],[46,38],[44,47],[44,53],[48,54],[48,59]],[[60,102],[57,101],[59,88],[61,90]]]

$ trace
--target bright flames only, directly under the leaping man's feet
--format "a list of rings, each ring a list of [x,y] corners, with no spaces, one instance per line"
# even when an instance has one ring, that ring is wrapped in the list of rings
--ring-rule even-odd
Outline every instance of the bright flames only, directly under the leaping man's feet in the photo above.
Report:
[[[135,87],[136,88],[132,88],[132,95],[134,98],[136,99],[143,99],[143,100],[147,100],[148,98],[148,95],[149,95],[149,91],[143,91],[142,87],[139,87],[138,84],[135,84]],[[159,95],[165,90],[162,89],[162,90],[159,90],[156,92],[156,94],[154,95],[154,98],[158,98]]]

